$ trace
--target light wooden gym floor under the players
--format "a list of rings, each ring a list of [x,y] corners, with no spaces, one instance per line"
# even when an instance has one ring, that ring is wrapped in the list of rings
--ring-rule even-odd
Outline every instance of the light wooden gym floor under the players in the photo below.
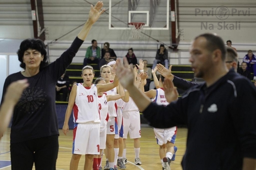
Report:
[[[72,156],[72,134],[73,131],[69,130],[67,136],[59,130],[59,155],[56,165],[56,170],[69,170],[69,163]],[[126,164],[126,170],[162,170],[160,158],[159,158],[159,145],[156,144],[154,138],[153,128],[141,128],[141,150],[140,158],[142,165],[138,166],[134,164],[134,149],[133,140],[126,140],[126,157],[128,164]],[[178,128],[175,145],[178,150],[176,153],[175,161],[171,162],[172,170],[182,170],[181,161],[185,152],[187,141],[187,129]],[[0,141],[0,170],[11,170],[10,166],[1,167],[2,160],[10,160],[10,128],[4,134]],[[81,157],[78,170],[83,170],[84,156]],[[105,155],[103,155],[102,167],[105,166]],[[33,168],[34,170],[35,168]]]

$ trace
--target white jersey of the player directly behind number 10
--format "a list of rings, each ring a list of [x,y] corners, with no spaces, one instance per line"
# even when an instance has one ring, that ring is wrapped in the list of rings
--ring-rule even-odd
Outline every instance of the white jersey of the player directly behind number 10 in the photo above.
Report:
[[[105,94],[99,97],[99,110],[100,110],[100,126],[107,125],[108,122],[108,101]]]

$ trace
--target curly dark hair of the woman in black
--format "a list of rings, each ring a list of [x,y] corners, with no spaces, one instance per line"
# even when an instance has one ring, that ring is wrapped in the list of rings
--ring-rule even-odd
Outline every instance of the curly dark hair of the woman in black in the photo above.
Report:
[[[40,64],[40,68],[39,68],[40,70],[49,64],[47,61],[48,56],[47,56],[46,46],[44,42],[36,38],[28,38],[26,40],[23,40],[20,43],[20,49],[17,51],[18,60],[21,62],[20,63],[21,68],[23,69],[26,68],[25,63],[23,62],[23,56],[24,56],[24,52],[28,49],[38,50],[41,53],[41,55],[44,55],[44,60]]]

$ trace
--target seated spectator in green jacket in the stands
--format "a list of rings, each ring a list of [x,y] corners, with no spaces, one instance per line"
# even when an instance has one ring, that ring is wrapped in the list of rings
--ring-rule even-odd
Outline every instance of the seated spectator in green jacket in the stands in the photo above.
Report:
[[[92,46],[88,47],[84,57],[84,66],[87,64],[98,64],[100,61],[100,47],[97,41],[92,40]]]

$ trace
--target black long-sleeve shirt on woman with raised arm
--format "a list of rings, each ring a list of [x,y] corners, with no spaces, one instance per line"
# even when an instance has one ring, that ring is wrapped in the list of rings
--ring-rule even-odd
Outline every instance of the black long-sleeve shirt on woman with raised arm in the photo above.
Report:
[[[56,61],[40,70],[37,75],[24,77],[21,72],[17,72],[5,79],[3,96],[11,82],[25,78],[29,82],[29,87],[24,90],[15,106],[10,134],[11,143],[59,134],[55,85],[72,62],[82,43],[83,41],[76,37],[69,49]]]

